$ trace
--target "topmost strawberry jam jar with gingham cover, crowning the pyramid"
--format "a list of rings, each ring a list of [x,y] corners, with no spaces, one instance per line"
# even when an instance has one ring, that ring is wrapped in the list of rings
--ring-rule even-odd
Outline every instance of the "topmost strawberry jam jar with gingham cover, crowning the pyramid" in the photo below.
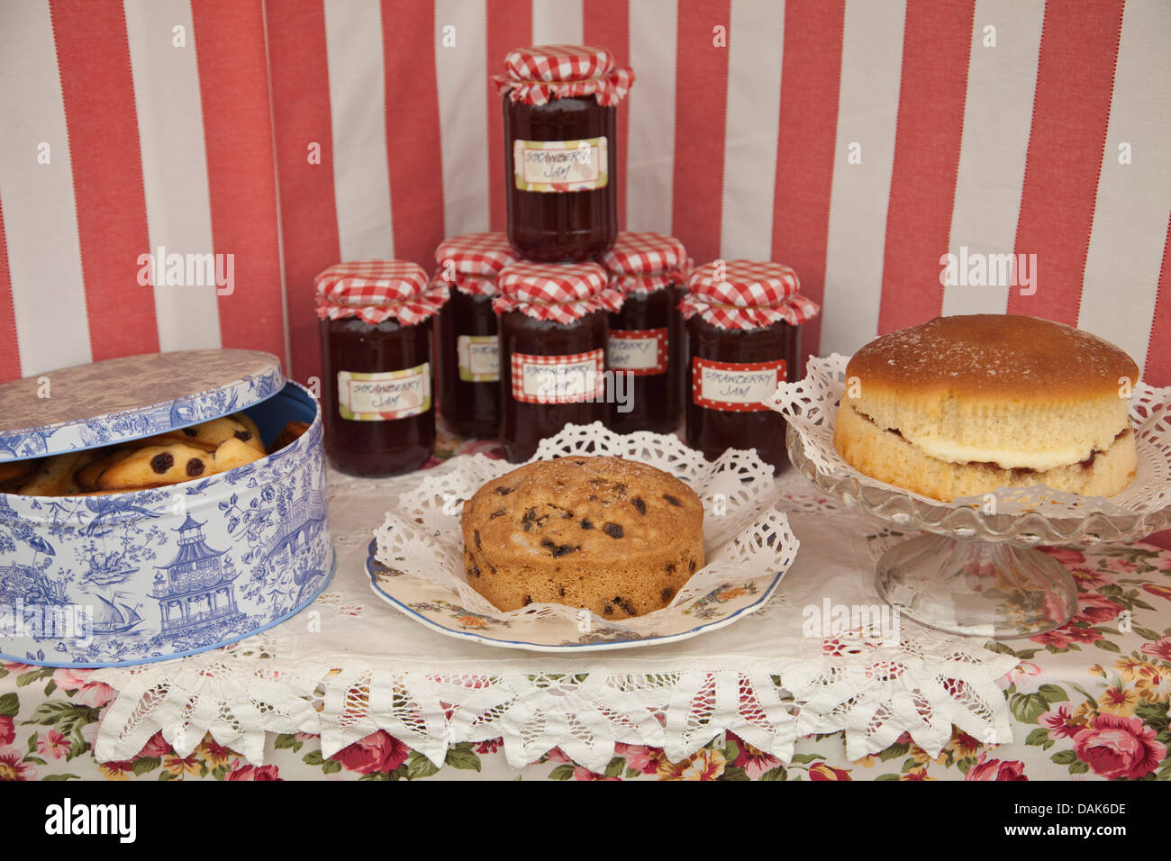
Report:
[[[618,232],[617,104],[634,73],[571,45],[512,50],[505,71],[508,241],[526,260],[589,260]]]

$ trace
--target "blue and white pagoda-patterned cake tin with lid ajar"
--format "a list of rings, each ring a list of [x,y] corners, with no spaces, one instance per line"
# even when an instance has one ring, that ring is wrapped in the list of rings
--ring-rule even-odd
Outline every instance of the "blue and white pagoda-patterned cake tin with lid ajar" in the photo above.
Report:
[[[0,463],[128,442],[242,411],[266,444],[225,473],[91,497],[0,493],[0,658],[117,667],[205,651],[269,628],[334,567],[321,409],[280,362],[191,350],[0,385]]]

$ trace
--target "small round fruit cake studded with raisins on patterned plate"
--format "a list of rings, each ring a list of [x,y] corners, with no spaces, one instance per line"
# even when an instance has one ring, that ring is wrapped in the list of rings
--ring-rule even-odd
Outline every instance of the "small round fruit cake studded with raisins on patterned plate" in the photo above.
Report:
[[[678,478],[617,457],[526,464],[464,504],[468,585],[501,610],[665,607],[704,567],[704,507]]]

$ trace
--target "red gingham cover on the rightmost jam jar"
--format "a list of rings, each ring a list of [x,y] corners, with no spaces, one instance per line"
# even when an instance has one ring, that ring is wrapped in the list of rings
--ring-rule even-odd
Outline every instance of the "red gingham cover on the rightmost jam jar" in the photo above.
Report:
[[[780,320],[800,326],[821,310],[800,287],[796,273],[783,264],[715,260],[691,273],[679,310],[684,319],[699,314],[723,329],[756,329]]]

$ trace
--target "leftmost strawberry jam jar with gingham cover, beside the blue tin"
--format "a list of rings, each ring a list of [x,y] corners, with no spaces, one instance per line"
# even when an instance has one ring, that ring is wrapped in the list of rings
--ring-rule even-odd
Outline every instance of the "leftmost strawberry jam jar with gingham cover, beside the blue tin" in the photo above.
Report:
[[[397,476],[434,452],[431,317],[447,300],[416,264],[359,260],[314,281],[326,453],[351,476]]]

